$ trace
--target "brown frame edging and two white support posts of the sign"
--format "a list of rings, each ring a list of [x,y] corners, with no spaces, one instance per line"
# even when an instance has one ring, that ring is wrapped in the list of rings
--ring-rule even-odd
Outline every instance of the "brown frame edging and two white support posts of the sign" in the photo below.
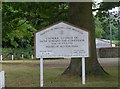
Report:
[[[72,25],[72,24],[70,24],[70,23],[68,23],[68,22],[64,22],[64,21],[60,21],[60,22],[57,22],[57,23],[55,23],[55,24],[53,24],[53,25],[50,25],[50,26],[47,26],[46,28],[43,28],[42,30],[45,30],[45,29],[47,29],[47,28],[49,28],[49,27],[52,27],[52,26],[54,26],[54,25],[56,25],[56,24],[59,24],[59,23],[61,23],[61,22],[63,22],[63,23],[65,23],[65,24],[67,24],[67,25],[70,25],[70,26],[72,26],[72,27],[75,27],[75,28],[78,28],[78,29],[81,29],[81,30],[83,30],[83,31],[86,31],[86,32],[88,32],[88,38],[87,38],[87,41],[88,41],[88,44],[87,44],[87,46],[88,46],[88,56],[87,57],[89,57],[90,56],[90,50],[89,50],[89,48],[90,48],[90,32],[89,31],[87,31],[87,30],[85,30],[85,29],[83,29],[83,28],[80,28],[80,27],[77,27],[77,26],[75,26],[75,25]],[[35,34],[34,34],[34,54],[35,54],[35,58],[36,58],[36,33],[37,32],[39,32],[39,31],[42,31],[42,30],[38,30],[38,31],[36,31],[35,32]],[[43,81],[43,56],[42,55],[39,55],[40,56],[40,87],[43,87],[43,84],[44,84],[44,81]],[[54,58],[54,57],[53,57]],[[65,57],[64,57],[65,58]],[[79,58],[82,58],[82,84],[85,84],[85,56],[81,56],[81,57],[79,57]]]

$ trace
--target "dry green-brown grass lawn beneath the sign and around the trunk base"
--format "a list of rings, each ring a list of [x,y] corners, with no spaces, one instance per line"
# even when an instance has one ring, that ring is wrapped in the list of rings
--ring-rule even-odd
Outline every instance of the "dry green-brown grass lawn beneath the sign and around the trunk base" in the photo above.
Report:
[[[44,87],[118,87],[118,67],[103,66],[111,75],[109,78],[87,77],[86,84],[81,84],[81,78],[61,76],[67,60],[45,60],[44,61]],[[61,65],[61,66],[60,66]],[[39,87],[39,60],[25,60],[3,62],[5,71],[6,87]]]

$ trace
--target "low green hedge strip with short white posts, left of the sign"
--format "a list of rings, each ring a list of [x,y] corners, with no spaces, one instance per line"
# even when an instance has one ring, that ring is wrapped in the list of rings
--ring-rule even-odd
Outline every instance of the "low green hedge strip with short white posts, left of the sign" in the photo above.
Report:
[[[19,60],[19,59],[34,59],[34,49],[10,49],[10,48],[3,48],[1,60]]]

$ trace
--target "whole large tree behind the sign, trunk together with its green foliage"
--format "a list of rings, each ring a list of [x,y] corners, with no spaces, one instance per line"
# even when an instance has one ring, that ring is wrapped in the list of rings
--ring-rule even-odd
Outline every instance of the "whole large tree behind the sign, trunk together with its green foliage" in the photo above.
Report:
[[[103,21],[105,20],[104,17],[107,15],[106,11],[115,6],[116,3],[102,3],[100,4],[100,8],[94,10],[99,10],[97,16]],[[86,29],[90,34],[90,57],[86,60],[86,74],[94,76],[106,74],[97,60],[95,23],[92,14],[93,10],[91,2],[4,2],[2,11],[3,47],[19,47],[22,45],[26,46],[28,44],[33,46],[33,35],[36,30],[59,20],[65,20],[77,25],[78,27]],[[70,65],[63,74],[80,76],[80,58],[71,59]]]

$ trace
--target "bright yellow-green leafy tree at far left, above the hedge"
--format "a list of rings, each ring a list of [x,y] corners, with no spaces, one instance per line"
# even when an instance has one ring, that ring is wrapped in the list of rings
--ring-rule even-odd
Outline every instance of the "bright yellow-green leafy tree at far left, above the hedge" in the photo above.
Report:
[[[14,5],[14,3],[13,3]],[[3,47],[21,47],[30,44],[36,29],[19,12],[13,8],[12,3],[3,4],[2,42]]]

